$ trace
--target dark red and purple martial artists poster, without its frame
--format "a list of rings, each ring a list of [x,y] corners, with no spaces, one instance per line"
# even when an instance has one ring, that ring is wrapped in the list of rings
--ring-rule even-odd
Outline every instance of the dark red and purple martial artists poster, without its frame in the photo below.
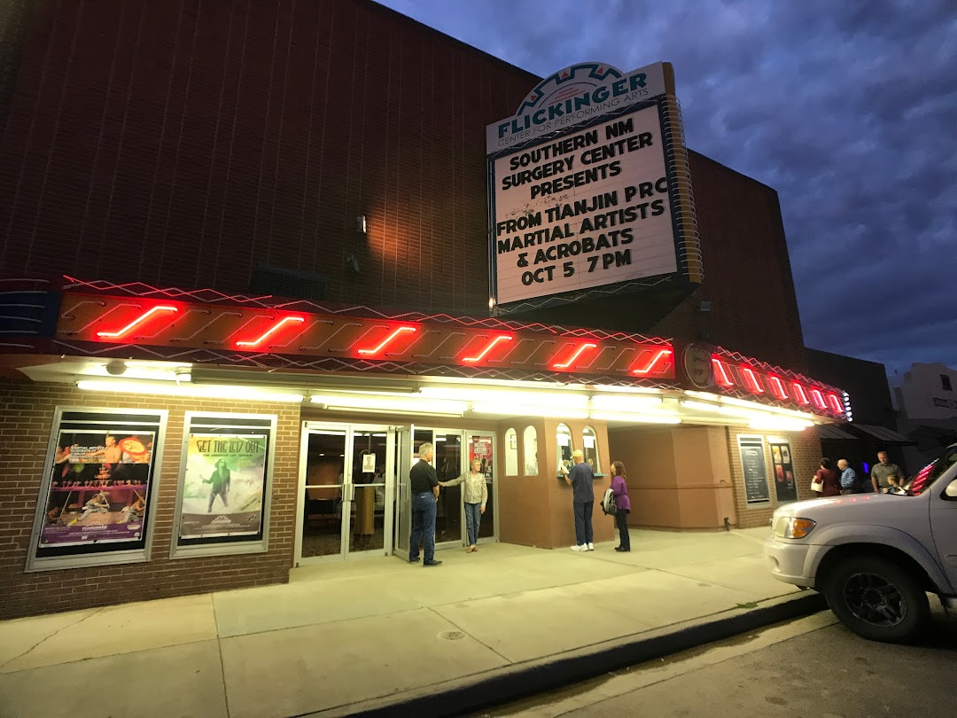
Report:
[[[156,432],[66,423],[56,433],[38,547],[141,541]]]

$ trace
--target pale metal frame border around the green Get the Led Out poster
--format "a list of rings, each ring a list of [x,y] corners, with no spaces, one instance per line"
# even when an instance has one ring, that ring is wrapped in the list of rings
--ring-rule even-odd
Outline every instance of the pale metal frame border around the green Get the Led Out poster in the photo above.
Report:
[[[269,419],[269,427],[262,430],[269,433],[269,446],[266,449],[266,476],[263,486],[262,537],[248,541],[229,541],[209,544],[180,545],[180,518],[183,509],[183,486],[186,483],[186,462],[189,456],[189,434],[194,416],[212,416],[233,419]],[[173,505],[172,533],[169,537],[169,558],[196,558],[201,556],[234,556],[243,553],[266,553],[269,551],[270,516],[273,508],[273,469],[276,460],[276,438],[278,434],[278,415],[250,414],[242,412],[202,412],[190,410],[183,415],[183,438],[180,448],[180,463],[176,477],[176,503]]]

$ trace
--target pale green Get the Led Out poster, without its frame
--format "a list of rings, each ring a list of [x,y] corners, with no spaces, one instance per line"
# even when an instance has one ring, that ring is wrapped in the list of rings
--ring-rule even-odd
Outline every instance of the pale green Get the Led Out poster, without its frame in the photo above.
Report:
[[[181,539],[257,535],[266,487],[266,434],[190,434]]]

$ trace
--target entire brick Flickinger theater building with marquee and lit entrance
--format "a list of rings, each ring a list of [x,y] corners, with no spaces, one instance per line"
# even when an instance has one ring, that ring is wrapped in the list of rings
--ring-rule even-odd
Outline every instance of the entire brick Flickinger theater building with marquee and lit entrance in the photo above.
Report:
[[[668,63],[538,78],[369,0],[9,30],[0,617],[402,559],[426,441],[479,459],[483,543],[567,550],[579,448],[634,527],[809,497],[846,395],[776,192],[684,146]]]

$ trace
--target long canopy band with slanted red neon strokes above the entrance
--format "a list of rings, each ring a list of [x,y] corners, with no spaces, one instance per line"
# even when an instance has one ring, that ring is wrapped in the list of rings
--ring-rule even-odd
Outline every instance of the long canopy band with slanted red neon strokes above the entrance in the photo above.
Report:
[[[694,389],[844,415],[835,387],[722,348],[495,318],[387,315],[307,302],[293,310],[269,298],[208,299],[211,290],[150,289],[136,296],[99,286],[78,282],[63,291],[53,338],[58,353]]]

